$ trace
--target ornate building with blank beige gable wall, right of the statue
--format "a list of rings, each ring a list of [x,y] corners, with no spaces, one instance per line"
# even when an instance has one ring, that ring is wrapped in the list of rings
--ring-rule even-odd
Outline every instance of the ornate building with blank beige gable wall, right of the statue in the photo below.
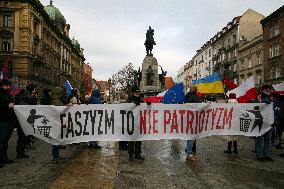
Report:
[[[250,41],[262,34],[260,21],[263,18],[262,14],[248,9],[242,16],[235,17],[210,40],[215,71],[239,83],[237,70],[239,46],[243,41]]]

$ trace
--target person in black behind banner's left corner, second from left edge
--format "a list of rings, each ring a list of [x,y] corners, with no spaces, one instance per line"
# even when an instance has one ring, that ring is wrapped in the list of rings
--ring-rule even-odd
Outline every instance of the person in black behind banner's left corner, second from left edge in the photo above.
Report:
[[[27,91],[25,89],[21,89],[20,92],[15,96],[16,105],[28,105],[27,101]],[[27,154],[25,154],[25,147],[26,147],[26,136],[23,132],[23,129],[20,123],[17,121],[17,134],[18,134],[18,141],[17,141],[17,158],[29,158]]]

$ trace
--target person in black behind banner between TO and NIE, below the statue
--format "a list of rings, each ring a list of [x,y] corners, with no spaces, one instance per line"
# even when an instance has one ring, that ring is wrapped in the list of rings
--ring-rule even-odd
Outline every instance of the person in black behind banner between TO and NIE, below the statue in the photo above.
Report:
[[[127,102],[134,103],[137,106],[140,105],[140,103],[144,102],[144,100],[140,96],[140,89],[137,86],[134,86],[131,92],[132,95],[128,98]],[[141,146],[142,146],[142,141],[128,142],[129,161],[134,161],[134,155],[135,159],[144,160],[144,157],[141,156],[141,151],[142,151]]]

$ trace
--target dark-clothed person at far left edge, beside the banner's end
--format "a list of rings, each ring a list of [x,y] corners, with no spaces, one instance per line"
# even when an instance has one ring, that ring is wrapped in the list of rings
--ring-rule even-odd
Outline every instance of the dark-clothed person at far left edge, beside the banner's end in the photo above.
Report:
[[[0,168],[4,167],[4,164],[13,163],[8,159],[8,141],[11,138],[14,130],[14,111],[13,106],[15,100],[10,95],[11,83],[3,79],[0,82]]]

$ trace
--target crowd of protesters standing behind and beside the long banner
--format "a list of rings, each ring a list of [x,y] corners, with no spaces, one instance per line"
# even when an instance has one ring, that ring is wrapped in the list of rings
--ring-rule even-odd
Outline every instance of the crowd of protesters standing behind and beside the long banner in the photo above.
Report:
[[[21,89],[16,96],[10,94],[11,83],[3,79],[0,83],[0,168],[5,164],[13,163],[7,156],[8,141],[11,138],[14,129],[17,129],[17,158],[29,158],[25,149],[31,147],[34,142],[33,136],[25,136],[20,123],[13,111],[14,105],[52,105],[52,94],[50,89],[44,89],[41,94],[40,102],[38,103],[38,91],[35,85],[29,84],[25,89]],[[85,95],[84,98],[79,97],[79,91],[77,89],[72,90],[71,96],[67,96],[66,92],[62,93],[59,98],[61,105],[72,106],[75,104],[101,104],[100,91],[95,89],[91,96]],[[123,97],[121,103],[134,103],[137,106],[143,103],[143,97],[137,86],[134,86],[131,91],[131,95]],[[281,138],[284,131],[284,95],[274,93],[273,88],[270,85],[264,85],[256,99],[251,99],[251,103],[266,103],[273,102],[275,122],[271,126],[271,129],[262,136],[254,137],[255,149],[253,152],[256,154],[256,159],[259,161],[273,161],[271,157],[272,143],[276,148],[282,148]],[[236,95],[231,93],[226,99],[224,95],[208,94],[206,96],[199,96],[196,87],[191,87],[190,91],[185,95],[184,103],[238,103]],[[147,103],[150,105],[150,103]],[[258,123],[256,116],[255,124]],[[238,137],[237,136],[224,136],[227,141],[227,147],[224,153],[238,154]],[[197,149],[196,140],[187,140],[186,142],[186,160],[196,161]],[[120,141],[119,149],[127,150],[129,155],[129,161],[140,160],[143,161],[142,154],[142,142],[141,141]],[[91,149],[101,149],[102,147],[97,141],[90,141],[88,147]],[[60,149],[64,149],[64,146],[53,145],[52,157],[56,162],[64,160],[59,155]],[[284,157],[284,154],[280,154]]]

